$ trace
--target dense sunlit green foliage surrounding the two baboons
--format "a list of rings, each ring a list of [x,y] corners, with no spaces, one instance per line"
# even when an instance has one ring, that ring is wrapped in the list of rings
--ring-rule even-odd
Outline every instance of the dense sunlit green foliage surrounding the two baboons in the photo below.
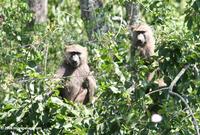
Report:
[[[196,134],[187,105],[146,76],[175,84],[200,126],[200,2],[138,0],[141,21],[154,28],[156,56],[130,59],[124,0],[104,1],[107,33],[87,38],[77,0],[49,0],[48,22],[29,27],[32,13],[25,0],[0,0],[0,134]],[[120,20],[116,19],[120,18]],[[98,88],[96,101],[80,105],[63,101],[52,76],[63,60],[63,48],[79,43],[89,51]],[[134,86],[134,88],[133,88]],[[47,97],[47,91],[55,91]],[[163,120],[151,122],[150,106],[161,101]],[[197,126],[196,125],[196,126]]]

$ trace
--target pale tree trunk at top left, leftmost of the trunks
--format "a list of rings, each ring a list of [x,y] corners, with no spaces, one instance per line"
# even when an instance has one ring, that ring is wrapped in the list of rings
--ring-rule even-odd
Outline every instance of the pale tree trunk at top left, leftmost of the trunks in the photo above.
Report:
[[[30,9],[34,13],[33,23],[43,23],[47,20],[48,0],[28,0]]]

